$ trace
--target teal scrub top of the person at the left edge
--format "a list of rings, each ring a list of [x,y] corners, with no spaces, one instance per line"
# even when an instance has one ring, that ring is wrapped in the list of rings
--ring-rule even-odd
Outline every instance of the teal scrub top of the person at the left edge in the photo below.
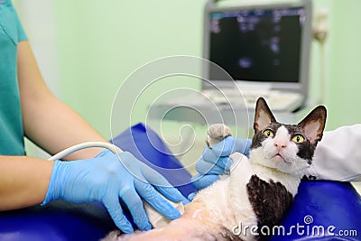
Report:
[[[0,155],[24,155],[17,44],[26,34],[11,0],[0,0]]]

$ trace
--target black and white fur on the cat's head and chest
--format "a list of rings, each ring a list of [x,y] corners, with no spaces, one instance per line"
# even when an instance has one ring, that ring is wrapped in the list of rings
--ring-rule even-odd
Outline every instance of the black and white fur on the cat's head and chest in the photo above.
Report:
[[[264,98],[259,98],[249,159],[234,156],[238,162],[230,177],[200,190],[195,199],[205,202],[227,230],[232,231],[242,223],[243,227],[258,227],[261,235],[261,228],[276,225],[292,203],[325,122],[326,108],[319,106],[298,125],[282,125],[275,120]],[[266,136],[265,130],[272,131],[273,137]],[[304,138],[301,144],[292,141],[296,134]],[[248,233],[237,238],[257,237]]]

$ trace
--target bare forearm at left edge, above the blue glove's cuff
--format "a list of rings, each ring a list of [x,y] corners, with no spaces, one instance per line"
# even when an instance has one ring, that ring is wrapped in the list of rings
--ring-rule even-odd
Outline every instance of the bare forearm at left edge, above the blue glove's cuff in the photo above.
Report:
[[[27,156],[0,156],[0,210],[42,202],[53,162]]]

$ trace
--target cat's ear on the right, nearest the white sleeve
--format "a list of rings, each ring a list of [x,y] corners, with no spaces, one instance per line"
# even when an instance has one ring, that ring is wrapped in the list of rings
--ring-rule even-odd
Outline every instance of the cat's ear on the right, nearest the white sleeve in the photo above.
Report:
[[[317,144],[321,140],[326,125],[326,116],[326,107],[319,106],[299,123],[312,144]]]

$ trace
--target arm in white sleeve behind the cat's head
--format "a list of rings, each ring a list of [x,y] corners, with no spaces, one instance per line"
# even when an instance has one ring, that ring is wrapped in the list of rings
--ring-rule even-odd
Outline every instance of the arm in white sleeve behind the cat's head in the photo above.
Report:
[[[361,125],[325,132],[316,147],[308,176],[319,180],[361,181]]]

